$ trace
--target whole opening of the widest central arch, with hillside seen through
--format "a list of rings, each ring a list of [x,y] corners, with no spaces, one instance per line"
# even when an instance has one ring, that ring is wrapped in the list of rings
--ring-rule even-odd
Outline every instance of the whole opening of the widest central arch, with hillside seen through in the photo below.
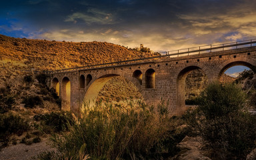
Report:
[[[113,106],[123,107],[131,101],[143,101],[143,96],[132,81],[120,75],[104,75],[90,85],[84,97],[83,107],[94,107],[95,103],[99,102],[102,102],[101,105],[111,103]]]

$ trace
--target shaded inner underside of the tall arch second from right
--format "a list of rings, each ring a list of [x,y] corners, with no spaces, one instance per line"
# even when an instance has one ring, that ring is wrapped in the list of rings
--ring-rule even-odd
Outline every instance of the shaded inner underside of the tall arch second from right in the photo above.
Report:
[[[179,71],[179,74],[177,75],[177,109],[176,109],[176,113],[178,115],[181,115],[184,111],[185,111],[185,81],[187,78],[187,75],[189,75],[189,73],[191,73],[191,71],[193,70],[199,70],[202,73],[205,74],[205,76],[207,77],[207,73],[205,73],[205,71],[203,71],[203,69],[201,67],[198,67],[196,65],[191,65],[191,66],[187,66],[185,68],[183,68],[181,71]],[[207,77],[207,80],[209,80],[209,77]]]

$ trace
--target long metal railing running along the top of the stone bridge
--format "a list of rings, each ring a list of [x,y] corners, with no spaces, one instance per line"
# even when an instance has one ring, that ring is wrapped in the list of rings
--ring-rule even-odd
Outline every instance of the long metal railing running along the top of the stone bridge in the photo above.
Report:
[[[249,46],[248,46],[249,45]],[[256,39],[250,39],[246,41],[237,41],[233,43],[224,43],[220,45],[203,45],[199,47],[191,47],[187,49],[178,49],[174,51],[166,51],[162,55],[154,56],[154,57],[146,57],[141,59],[131,59],[126,61],[116,61],[112,63],[101,63],[97,65],[87,65],[83,67],[74,67],[69,69],[59,69],[55,71],[49,71],[49,73],[59,73],[62,71],[73,71],[77,69],[97,69],[102,67],[118,67],[121,65],[134,65],[138,63],[149,63],[152,62],[153,59],[161,59],[164,57],[172,58],[172,57],[181,57],[187,55],[200,55],[202,53],[211,53],[212,51],[225,51],[225,49],[239,49],[243,47],[253,47],[256,46]],[[133,63],[131,63],[133,62]]]

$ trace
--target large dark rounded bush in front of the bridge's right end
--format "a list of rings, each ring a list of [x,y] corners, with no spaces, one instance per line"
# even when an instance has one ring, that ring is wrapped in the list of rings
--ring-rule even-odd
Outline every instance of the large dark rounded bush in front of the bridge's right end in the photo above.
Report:
[[[256,147],[256,117],[245,111],[241,87],[211,83],[199,101],[199,107],[189,111],[188,123],[211,147],[213,159],[245,159]]]

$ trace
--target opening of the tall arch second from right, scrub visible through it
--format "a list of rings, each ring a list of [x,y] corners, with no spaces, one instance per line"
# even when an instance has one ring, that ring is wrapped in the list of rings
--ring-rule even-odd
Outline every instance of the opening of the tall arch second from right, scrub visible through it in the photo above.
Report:
[[[207,83],[208,77],[200,67],[185,67],[177,77],[177,113],[183,113],[186,105],[197,105],[195,99]]]

